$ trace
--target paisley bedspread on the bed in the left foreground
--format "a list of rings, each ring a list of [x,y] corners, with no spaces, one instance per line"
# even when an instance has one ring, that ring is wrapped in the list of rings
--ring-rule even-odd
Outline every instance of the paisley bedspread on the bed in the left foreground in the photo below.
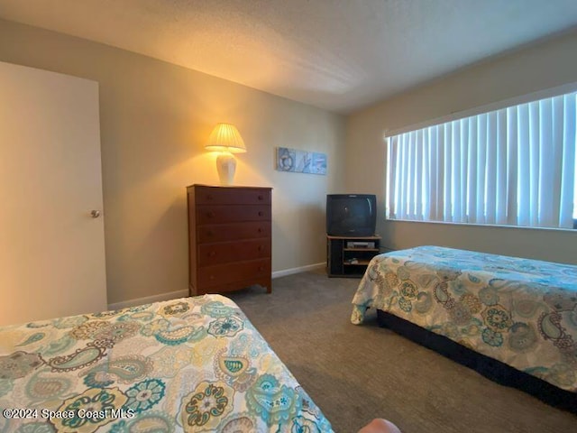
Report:
[[[0,432],[332,432],[220,295],[0,327]]]

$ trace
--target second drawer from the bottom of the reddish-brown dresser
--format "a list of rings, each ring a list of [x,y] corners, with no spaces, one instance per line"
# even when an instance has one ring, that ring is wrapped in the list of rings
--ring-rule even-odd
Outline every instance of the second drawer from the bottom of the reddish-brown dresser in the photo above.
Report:
[[[270,257],[270,239],[198,245],[198,266]],[[202,272],[199,270],[199,272]]]

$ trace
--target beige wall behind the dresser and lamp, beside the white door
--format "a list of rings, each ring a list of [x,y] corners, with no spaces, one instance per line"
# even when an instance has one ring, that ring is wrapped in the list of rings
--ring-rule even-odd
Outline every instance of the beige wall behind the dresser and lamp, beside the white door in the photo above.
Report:
[[[108,302],[188,289],[186,189],[217,184],[217,122],[248,148],[237,185],[273,190],[273,271],[325,261],[325,194],[343,188],[344,120],[103,44],[0,21],[0,60],[98,81]],[[277,146],[327,153],[327,176],[274,170]]]

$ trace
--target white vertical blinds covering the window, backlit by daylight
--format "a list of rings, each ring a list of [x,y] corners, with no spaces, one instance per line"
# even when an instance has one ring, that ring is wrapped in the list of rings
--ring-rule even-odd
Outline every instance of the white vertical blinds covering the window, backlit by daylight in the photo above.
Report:
[[[388,137],[387,217],[572,228],[576,95]]]

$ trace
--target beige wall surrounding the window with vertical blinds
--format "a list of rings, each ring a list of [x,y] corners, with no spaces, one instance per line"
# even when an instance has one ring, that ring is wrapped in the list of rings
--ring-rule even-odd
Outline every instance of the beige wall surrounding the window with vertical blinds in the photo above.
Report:
[[[377,231],[401,249],[438,244],[488,253],[577,263],[577,233],[566,230],[384,221],[385,130],[577,82],[577,32],[508,53],[391,97],[347,119],[346,188],[377,194]]]

